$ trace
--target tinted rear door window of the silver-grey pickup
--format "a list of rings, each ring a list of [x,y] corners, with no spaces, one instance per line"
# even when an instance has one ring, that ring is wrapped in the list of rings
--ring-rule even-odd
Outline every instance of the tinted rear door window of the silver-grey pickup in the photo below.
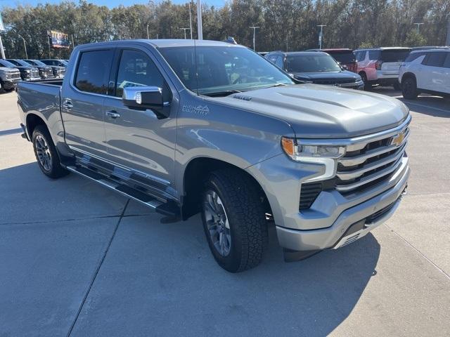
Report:
[[[83,52],[79,58],[75,86],[87,93],[106,95],[113,55],[113,49]]]

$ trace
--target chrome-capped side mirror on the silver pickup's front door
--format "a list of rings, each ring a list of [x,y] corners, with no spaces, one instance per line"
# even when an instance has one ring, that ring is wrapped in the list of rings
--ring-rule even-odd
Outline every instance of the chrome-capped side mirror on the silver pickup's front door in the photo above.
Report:
[[[122,101],[125,106],[138,110],[162,109],[162,88],[158,86],[130,86],[124,88]]]

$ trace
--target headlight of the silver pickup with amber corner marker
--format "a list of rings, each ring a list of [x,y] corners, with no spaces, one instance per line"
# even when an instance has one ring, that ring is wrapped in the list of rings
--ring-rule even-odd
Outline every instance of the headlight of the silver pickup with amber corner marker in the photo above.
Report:
[[[306,181],[326,180],[336,174],[338,158],[345,154],[345,147],[338,145],[302,145],[301,140],[293,138],[281,138],[281,147],[285,154],[295,160],[306,164],[321,164],[323,171],[319,176],[309,178]]]

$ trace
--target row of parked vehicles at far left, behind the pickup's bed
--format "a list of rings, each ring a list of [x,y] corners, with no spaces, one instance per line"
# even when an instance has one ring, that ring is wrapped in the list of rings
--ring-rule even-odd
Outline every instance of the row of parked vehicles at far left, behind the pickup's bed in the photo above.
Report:
[[[13,91],[18,81],[62,79],[65,60],[0,59],[0,91]]]

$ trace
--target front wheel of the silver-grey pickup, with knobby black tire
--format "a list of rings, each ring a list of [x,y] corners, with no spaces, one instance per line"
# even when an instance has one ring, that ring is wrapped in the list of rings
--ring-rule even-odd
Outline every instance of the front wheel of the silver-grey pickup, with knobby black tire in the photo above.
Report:
[[[224,270],[243,272],[259,265],[268,242],[264,197],[245,173],[224,169],[210,174],[202,195],[202,220],[212,256]]]

